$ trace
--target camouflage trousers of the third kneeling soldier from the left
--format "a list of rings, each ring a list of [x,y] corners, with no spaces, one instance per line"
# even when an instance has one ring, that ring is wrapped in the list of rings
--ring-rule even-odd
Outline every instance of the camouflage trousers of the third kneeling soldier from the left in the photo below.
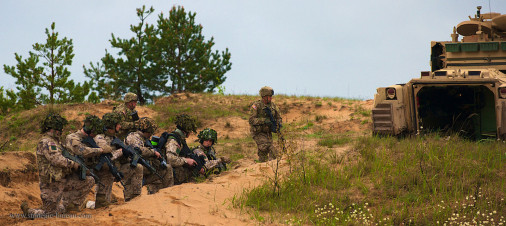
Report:
[[[137,167],[130,166],[130,163],[121,164],[119,171],[123,174],[123,197],[125,202],[140,196],[142,191],[142,168],[141,164]]]

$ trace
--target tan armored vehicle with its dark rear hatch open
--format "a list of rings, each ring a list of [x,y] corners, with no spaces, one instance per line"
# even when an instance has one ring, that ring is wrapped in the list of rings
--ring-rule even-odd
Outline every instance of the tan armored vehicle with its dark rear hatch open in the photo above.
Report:
[[[430,71],[377,89],[373,133],[506,138],[506,14],[481,13],[432,41]]]

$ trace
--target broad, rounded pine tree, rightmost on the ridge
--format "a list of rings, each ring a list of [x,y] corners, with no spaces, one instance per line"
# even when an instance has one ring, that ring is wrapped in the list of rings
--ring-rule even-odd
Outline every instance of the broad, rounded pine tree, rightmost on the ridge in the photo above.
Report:
[[[212,52],[214,38],[205,40],[203,27],[196,24],[195,15],[174,6],[168,18],[163,13],[158,16],[159,40],[153,48],[154,59],[160,71],[170,76],[170,93],[214,92],[231,69],[228,48],[221,54],[217,50]]]

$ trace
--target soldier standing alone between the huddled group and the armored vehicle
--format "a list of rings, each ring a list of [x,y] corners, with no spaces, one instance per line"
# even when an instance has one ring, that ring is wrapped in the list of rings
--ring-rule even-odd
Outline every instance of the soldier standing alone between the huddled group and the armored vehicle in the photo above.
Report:
[[[272,102],[274,90],[264,86],[260,89],[261,100],[251,105],[249,124],[253,140],[258,147],[258,161],[265,162],[276,158],[276,149],[272,145],[272,132],[281,127],[281,115],[278,107]],[[270,113],[270,115],[269,115]]]

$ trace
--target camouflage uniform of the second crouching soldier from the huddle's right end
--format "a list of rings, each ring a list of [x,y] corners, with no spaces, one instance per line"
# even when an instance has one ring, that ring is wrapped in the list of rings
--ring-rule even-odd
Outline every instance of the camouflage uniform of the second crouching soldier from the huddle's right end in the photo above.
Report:
[[[186,145],[185,135],[180,129],[176,129],[172,133],[177,134],[181,138],[181,144],[177,142],[175,137],[169,137],[169,140],[165,144],[167,165],[171,165],[174,170],[174,184],[182,184],[188,182],[192,176],[190,168],[184,167],[186,164],[185,158],[179,156],[181,149]]]

